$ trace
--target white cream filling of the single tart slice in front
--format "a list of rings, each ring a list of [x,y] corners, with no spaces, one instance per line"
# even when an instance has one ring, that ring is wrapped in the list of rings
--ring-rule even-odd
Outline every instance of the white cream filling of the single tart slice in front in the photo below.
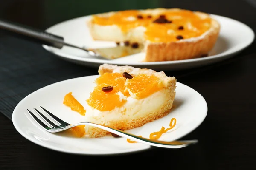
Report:
[[[129,96],[124,105],[111,111],[99,111],[88,108],[85,114],[85,121],[108,125],[109,121],[131,121],[132,119],[159,111],[166,100],[165,91],[165,89],[162,89],[144,99],[134,99]],[[123,94],[120,95],[120,99],[123,99],[123,97],[125,97]]]

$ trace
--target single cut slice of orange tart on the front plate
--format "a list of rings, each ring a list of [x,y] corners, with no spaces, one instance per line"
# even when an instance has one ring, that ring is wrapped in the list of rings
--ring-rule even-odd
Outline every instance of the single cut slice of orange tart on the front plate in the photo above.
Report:
[[[176,79],[151,69],[103,64],[87,99],[85,121],[120,130],[140,127],[169,114],[175,98]],[[85,126],[90,137],[108,131]]]

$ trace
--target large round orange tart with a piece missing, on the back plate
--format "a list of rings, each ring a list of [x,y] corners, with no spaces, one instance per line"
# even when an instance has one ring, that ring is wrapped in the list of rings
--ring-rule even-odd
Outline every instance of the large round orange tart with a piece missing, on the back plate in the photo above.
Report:
[[[209,14],[178,8],[96,14],[88,22],[94,40],[143,45],[145,61],[205,56],[218,39],[220,25]]]

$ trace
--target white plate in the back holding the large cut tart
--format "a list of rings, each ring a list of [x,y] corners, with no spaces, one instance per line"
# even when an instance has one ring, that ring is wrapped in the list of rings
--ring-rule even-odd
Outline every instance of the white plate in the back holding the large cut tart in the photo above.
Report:
[[[204,58],[166,62],[140,62],[143,57],[145,57],[145,53],[139,53],[126,58],[106,60],[91,57],[84,51],[70,47],[64,47],[62,49],[52,48],[47,45],[43,45],[43,47],[62,59],[90,67],[97,68],[103,63],[108,63],[114,65],[131,65],[134,67],[151,68],[154,70],[164,71],[193,68],[219,62],[229,57],[233,57],[237,52],[243,50],[253,42],[254,32],[244,23],[218,15],[211,14],[211,16],[218,20],[221,25],[221,31],[215,47],[209,53],[210,56]],[[86,25],[86,21],[90,18],[91,16],[85,16],[73,20],[67,20],[48,28],[46,31],[63,36],[66,42],[70,42],[78,46],[85,46],[89,48],[115,46],[115,42],[92,40],[89,29]]]

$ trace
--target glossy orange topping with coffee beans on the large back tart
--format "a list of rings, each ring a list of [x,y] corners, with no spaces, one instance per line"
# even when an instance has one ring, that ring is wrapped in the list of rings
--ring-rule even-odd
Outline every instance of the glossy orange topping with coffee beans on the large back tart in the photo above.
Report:
[[[209,30],[211,18],[200,17],[189,10],[165,11],[161,14],[145,14],[137,10],[118,11],[110,16],[93,16],[98,25],[117,25],[122,31],[143,26],[144,38],[151,42],[178,41],[198,37]]]

